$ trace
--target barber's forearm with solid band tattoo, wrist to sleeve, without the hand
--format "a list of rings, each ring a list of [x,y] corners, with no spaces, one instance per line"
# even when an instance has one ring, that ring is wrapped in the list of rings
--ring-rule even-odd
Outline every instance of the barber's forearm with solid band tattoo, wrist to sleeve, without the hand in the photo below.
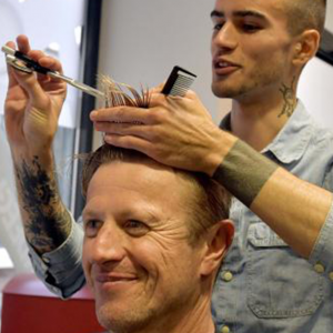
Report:
[[[213,176],[295,252],[310,258],[330,213],[332,193],[296,178],[238,139]]]

